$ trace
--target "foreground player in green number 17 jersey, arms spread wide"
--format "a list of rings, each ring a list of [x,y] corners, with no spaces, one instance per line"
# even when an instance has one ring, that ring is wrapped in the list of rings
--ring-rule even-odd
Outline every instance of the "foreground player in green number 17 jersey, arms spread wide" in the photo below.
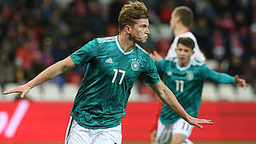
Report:
[[[186,113],[160,80],[150,55],[136,44],[146,42],[150,34],[148,18],[144,3],[129,2],[120,11],[117,36],[95,38],[30,82],[4,94],[19,92],[23,98],[34,86],[88,63],[71,110],[66,144],[122,143],[121,119],[138,76],[142,76],[166,106],[186,122],[200,128],[201,124],[212,124],[210,120],[193,118]]]

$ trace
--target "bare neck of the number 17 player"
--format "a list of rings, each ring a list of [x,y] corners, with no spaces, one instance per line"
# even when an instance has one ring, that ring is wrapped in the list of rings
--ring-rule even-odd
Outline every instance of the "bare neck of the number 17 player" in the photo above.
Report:
[[[118,35],[118,41],[122,47],[122,50],[130,51],[130,50],[134,49],[135,42],[130,40],[129,35],[120,33]]]

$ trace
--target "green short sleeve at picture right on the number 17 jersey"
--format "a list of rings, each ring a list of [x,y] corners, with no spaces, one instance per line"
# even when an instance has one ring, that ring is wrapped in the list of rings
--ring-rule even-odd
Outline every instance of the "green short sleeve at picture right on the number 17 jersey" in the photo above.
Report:
[[[154,61],[152,60],[152,58],[150,58],[150,56],[148,56],[147,58],[146,69],[142,73],[142,78],[145,80],[146,83],[160,82],[157,67],[155,66]]]

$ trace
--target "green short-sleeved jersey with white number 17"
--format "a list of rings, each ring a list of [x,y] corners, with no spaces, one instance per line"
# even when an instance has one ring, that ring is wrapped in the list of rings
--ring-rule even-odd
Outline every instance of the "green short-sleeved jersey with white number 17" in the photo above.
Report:
[[[71,116],[89,129],[120,125],[138,76],[148,83],[160,81],[150,55],[138,44],[133,50],[124,51],[118,36],[95,38],[70,57],[76,66],[88,63]]]

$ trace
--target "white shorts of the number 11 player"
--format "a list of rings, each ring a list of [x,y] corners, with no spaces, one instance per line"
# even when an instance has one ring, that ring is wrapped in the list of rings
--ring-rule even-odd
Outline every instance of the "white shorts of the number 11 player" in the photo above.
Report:
[[[187,138],[190,137],[193,127],[182,118],[171,125],[163,125],[160,119],[158,119],[157,142],[158,144],[170,144],[174,134],[182,134],[184,139],[189,141]]]

